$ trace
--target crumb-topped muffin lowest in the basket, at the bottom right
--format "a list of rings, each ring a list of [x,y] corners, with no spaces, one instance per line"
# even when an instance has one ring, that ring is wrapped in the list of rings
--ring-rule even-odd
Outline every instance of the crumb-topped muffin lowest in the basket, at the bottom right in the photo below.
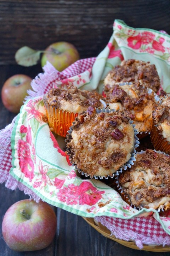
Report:
[[[152,149],[137,152],[134,165],[119,176],[119,185],[138,208],[170,208],[170,156]]]

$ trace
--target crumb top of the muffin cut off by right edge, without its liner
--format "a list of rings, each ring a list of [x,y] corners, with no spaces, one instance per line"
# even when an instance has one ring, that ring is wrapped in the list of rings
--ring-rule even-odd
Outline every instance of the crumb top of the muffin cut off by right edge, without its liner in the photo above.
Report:
[[[153,111],[153,119],[158,131],[170,142],[170,96],[162,98],[162,102]]]

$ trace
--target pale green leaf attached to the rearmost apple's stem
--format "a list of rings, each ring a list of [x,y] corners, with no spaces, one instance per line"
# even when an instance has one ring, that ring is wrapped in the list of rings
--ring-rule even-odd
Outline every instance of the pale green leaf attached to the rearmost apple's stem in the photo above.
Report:
[[[34,50],[28,46],[23,46],[15,54],[16,62],[24,67],[36,65],[40,59],[42,51]]]

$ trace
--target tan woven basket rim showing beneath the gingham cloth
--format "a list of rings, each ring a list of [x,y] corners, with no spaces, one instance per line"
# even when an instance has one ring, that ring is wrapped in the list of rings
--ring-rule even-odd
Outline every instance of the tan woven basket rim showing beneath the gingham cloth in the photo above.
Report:
[[[85,221],[91,225],[94,229],[96,229],[99,233],[101,233],[103,236],[112,239],[116,241],[117,243],[124,245],[126,247],[129,247],[131,249],[135,250],[141,250],[137,245],[135,244],[134,241],[124,241],[116,238],[114,235],[111,235],[110,230],[108,230],[106,227],[104,227],[100,222],[96,222],[94,218],[84,218]],[[170,246],[154,246],[154,245],[143,245],[143,251],[153,251],[153,252],[168,252],[170,251]]]

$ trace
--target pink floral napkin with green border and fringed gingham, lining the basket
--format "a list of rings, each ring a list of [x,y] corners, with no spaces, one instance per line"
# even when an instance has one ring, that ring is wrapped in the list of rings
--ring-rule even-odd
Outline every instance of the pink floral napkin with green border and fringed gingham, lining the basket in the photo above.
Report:
[[[46,121],[42,97],[50,88],[72,82],[81,89],[97,89],[101,93],[104,77],[123,59],[133,58],[155,64],[162,88],[170,92],[170,36],[151,29],[131,28],[120,20],[115,20],[113,29],[107,46],[97,58],[79,60],[62,72],[47,63],[44,73],[32,81],[34,91],[29,91],[20,113],[12,124],[0,131],[0,182],[5,181],[11,189],[18,187],[36,201],[41,198],[83,217],[98,216],[98,220],[108,228],[113,227],[113,218],[120,223],[124,220],[127,231],[132,223],[141,225],[136,221],[146,218],[148,222],[143,224],[143,230],[152,230],[153,226],[149,224],[149,216],[152,215],[159,230],[154,237],[159,239],[153,241],[153,235],[146,236],[142,229],[138,230],[140,234],[133,230],[132,239],[140,240],[138,246],[141,247],[147,241],[158,244],[158,240],[161,244],[170,245],[169,215],[161,217],[154,209],[133,209],[102,181],[81,179],[69,163],[64,139],[55,138]],[[103,216],[107,219],[103,220]],[[120,233],[125,234],[121,228],[119,231],[116,234],[118,238]],[[134,234],[137,234],[136,238]],[[139,239],[138,235],[146,239]]]

